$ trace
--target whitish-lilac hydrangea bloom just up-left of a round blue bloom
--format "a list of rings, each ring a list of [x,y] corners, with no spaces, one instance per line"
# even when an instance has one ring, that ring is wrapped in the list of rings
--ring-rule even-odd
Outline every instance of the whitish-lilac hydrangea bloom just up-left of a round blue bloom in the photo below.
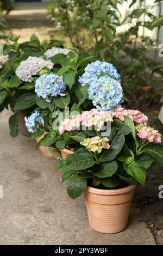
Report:
[[[38,57],[28,57],[17,67],[15,74],[24,82],[32,82],[32,76],[37,75],[43,68],[53,68],[53,63]]]

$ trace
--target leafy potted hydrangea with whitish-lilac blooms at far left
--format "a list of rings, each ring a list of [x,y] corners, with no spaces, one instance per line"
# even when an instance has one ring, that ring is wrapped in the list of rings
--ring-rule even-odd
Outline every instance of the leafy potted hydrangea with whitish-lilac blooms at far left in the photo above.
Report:
[[[0,102],[1,111],[10,106],[14,112],[9,119],[9,126],[11,136],[16,137],[19,129],[23,135],[31,135],[24,123],[25,115],[29,116],[37,107],[41,109],[48,107],[51,112],[54,110],[54,102],[42,99],[39,89],[38,95],[35,93],[37,78],[51,73],[53,76],[63,75],[64,83],[71,88],[76,77],[73,65],[77,62],[78,56],[75,52],[64,49],[63,42],[59,40],[40,42],[35,35],[31,36],[29,42],[23,44],[18,44],[16,36],[12,36],[11,40],[12,45],[4,45],[5,58],[3,56],[0,68]],[[68,100],[70,96],[66,95],[64,101]]]

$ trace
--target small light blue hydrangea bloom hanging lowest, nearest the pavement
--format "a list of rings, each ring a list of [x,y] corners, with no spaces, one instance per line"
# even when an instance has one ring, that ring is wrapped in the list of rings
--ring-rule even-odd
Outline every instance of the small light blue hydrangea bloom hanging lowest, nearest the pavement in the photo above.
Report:
[[[39,127],[45,126],[43,118],[38,111],[35,111],[30,117],[25,117],[24,120],[28,131],[31,133],[36,132]]]

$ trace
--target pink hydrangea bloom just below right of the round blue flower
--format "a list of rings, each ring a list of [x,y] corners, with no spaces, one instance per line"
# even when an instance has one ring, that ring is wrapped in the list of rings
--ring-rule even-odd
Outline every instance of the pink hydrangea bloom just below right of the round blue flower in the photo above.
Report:
[[[144,125],[147,125],[148,121],[148,118],[145,114],[134,109],[125,109],[123,107],[117,107],[111,114],[112,117],[118,118],[121,121],[124,121],[124,116],[129,117],[137,124],[143,123]]]

